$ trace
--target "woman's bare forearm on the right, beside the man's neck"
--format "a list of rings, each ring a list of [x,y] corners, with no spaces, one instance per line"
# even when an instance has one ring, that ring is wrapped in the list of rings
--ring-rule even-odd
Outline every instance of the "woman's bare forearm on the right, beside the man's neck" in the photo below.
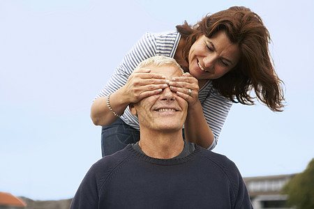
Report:
[[[188,116],[184,123],[184,134],[186,140],[203,148],[209,148],[214,141],[214,134],[205,120],[202,104],[195,103],[188,107]]]

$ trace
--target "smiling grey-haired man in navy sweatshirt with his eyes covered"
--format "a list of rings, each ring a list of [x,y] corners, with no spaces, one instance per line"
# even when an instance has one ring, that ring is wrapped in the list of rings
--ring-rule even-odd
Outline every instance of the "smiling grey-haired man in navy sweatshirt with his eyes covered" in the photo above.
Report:
[[[157,56],[139,68],[171,79],[174,59]],[[188,102],[169,87],[129,106],[140,141],[89,169],[70,208],[252,208],[236,165],[183,140]]]

